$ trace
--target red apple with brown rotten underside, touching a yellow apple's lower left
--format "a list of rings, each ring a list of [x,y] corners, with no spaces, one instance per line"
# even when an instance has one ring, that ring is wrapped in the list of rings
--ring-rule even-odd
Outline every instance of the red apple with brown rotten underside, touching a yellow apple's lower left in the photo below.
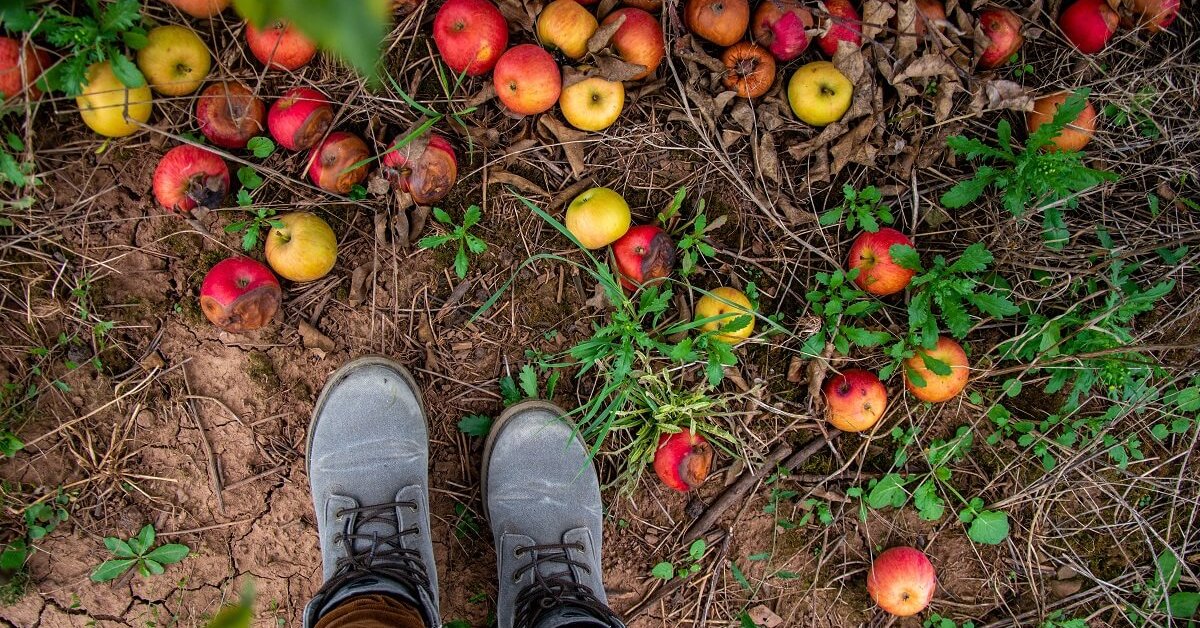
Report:
[[[226,331],[253,331],[280,311],[283,291],[271,270],[248,257],[230,257],[204,275],[200,310]]]

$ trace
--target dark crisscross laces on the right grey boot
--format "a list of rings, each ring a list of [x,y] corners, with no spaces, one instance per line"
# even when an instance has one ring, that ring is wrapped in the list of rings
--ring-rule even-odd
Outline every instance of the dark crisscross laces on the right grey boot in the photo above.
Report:
[[[604,602],[600,602],[590,587],[575,581],[571,567],[577,567],[587,574],[592,573],[592,568],[587,563],[571,558],[571,550],[582,552],[586,551],[586,548],[581,543],[563,543],[527,545],[516,549],[515,554],[518,558],[528,554],[530,561],[517,568],[514,579],[521,580],[530,572],[534,579],[533,584],[517,593],[516,614],[512,622],[516,628],[532,628],[548,610],[560,606],[582,609],[600,621],[620,626],[617,614]],[[545,575],[540,569],[542,566],[558,566],[559,569]]]

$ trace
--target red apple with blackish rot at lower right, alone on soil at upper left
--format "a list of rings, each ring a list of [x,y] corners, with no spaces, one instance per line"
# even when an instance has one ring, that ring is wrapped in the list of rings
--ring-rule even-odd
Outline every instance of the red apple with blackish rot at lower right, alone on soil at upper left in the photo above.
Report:
[[[218,208],[228,191],[229,167],[224,160],[191,144],[168,150],[154,171],[155,201],[169,211]]]

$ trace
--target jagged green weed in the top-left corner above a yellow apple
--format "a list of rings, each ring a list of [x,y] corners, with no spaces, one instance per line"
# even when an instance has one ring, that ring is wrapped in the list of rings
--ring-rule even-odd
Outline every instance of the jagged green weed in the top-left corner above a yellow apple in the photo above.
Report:
[[[109,61],[113,73],[127,88],[146,84],[138,66],[126,56],[122,47],[143,48],[146,31],[142,26],[142,4],[138,0],[85,0],[91,14],[71,16],[53,4],[36,10],[7,11],[5,26],[14,32],[30,32],[44,37],[62,50],[62,59],[49,68],[38,83],[67,96],[78,96],[88,83],[88,66]]]

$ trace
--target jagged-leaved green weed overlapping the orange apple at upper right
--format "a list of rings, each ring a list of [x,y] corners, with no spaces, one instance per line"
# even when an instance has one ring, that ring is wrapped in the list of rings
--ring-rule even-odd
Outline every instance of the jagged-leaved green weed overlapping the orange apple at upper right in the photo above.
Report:
[[[1040,210],[1043,240],[1050,249],[1062,249],[1070,237],[1062,208],[1075,208],[1080,192],[1117,179],[1114,173],[1084,166],[1082,152],[1043,150],[1079,116],[1087,106],[1087,95],[1088,90],[1081,89],[1068,96],[1054,119],[1030,134],[1024,148],[1014,143],[1012,125],[1003,119],[996,125],[995,146],[964,136],[950,137],[947,143],[954,152],[989,163],[942,195],[942,205],[966,207],[990,186],[1014,216],[1028,209]]]

